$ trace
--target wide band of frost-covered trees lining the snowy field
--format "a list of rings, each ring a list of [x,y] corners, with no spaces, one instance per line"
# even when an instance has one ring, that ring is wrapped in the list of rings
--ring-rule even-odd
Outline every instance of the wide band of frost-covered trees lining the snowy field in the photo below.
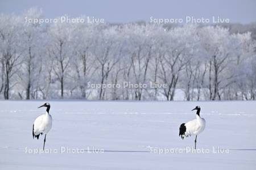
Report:
[[[256,23],[25,22],[43,17],[0,15],[0,99],[256,98]],[[88,87],[123,82],[167,87]]]

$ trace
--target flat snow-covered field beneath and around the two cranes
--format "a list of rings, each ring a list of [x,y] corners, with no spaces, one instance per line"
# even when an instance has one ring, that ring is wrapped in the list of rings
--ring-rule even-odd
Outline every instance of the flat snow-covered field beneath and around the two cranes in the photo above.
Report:
[[[44,102],[0,101],[0,169],[256,169],[255,101],[49,101],[53,126],[46,153],[36,154],[43,138],[32,139],[32,124]],[[186,153],[195,137],[181,140],[179,126],[195,118],[196,105],[207,127],[201,150]],[[164,148],[171,153],[159,154]]]

